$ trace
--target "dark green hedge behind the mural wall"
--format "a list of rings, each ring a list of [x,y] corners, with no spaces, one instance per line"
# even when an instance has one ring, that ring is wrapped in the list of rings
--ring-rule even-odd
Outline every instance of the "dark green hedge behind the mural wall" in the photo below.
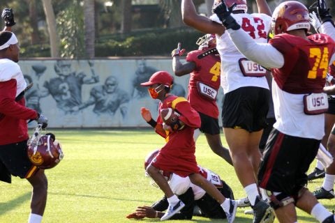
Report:
[[[203,33],[193,29],[160,29],[102,36],[96,41],[96,57],[106,56],[170,56],[181,42],[186,51],[198,48],[196,40]],[[49,45],[21,47],[21,58],[50,57]]]

